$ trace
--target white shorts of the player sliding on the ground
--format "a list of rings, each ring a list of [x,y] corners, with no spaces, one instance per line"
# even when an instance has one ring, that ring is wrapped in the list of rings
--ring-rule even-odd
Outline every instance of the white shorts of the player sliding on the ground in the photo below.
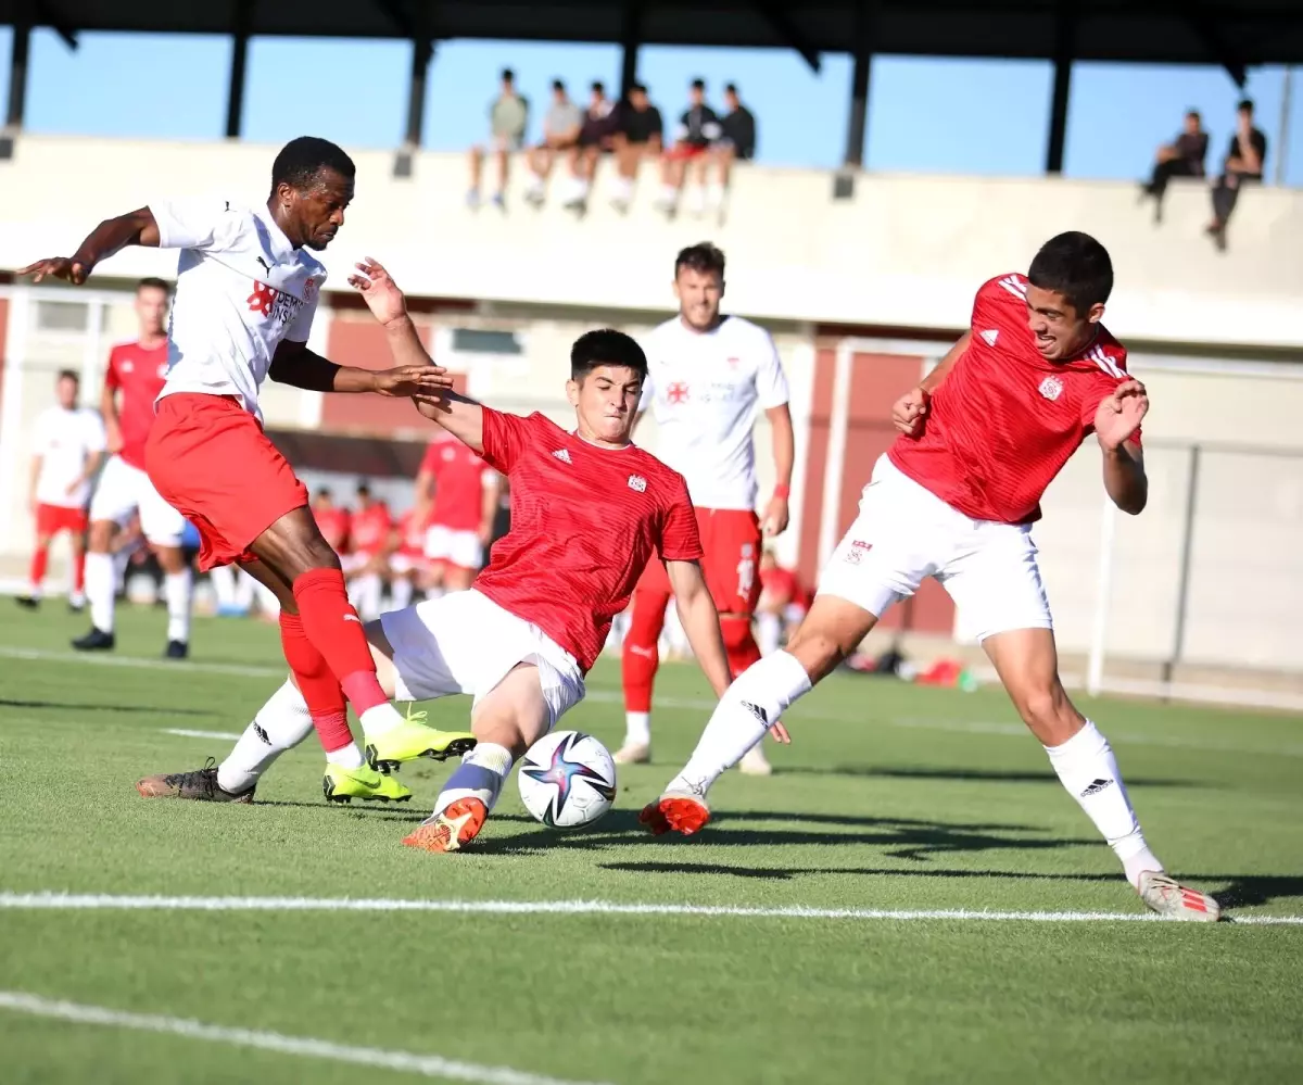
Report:
[[[474,589],[391,610],[380,627],[394,649],[395,700],[470,694],[478,704],[520,662],[538,668],[549,729],[584,699],[575,657]]]

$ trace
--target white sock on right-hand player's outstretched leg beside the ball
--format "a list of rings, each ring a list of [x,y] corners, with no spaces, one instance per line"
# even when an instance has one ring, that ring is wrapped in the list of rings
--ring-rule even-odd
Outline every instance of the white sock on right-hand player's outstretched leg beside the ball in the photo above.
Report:
[[[705,795],[710,785],[765,737],[797,698],[809,692],[805,668],[787,652],[752,664],[719,698],[697,749],[666,790]]]

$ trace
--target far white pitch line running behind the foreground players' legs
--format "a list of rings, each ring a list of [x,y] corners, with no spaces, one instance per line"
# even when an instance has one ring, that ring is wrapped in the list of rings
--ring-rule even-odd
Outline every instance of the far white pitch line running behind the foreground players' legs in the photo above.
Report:
[[[125,666],[143,670],[168,670],[188,674],[231,674],[241,678],[283,678],[283,666],[244,666],[222,662],[194,662],[189,660],[154,660],[139,656],[81,655],[74,652],[48,652],[42,648],[13,648],[0,646],[0,659],[36,660],[44,662],[74,662],[99,666]],[[598,704],[622,704],[624,696],[619,690],[589,686],[585,700]],[[715,702],[704,698],[657,698],[663,708],[684,708],[709,713]],[[1024,738],[1027,728],[1022,724],[990,722],[984,720],[942,720],[916,716],[850,716],[846,713],[810,712],[803,709],[801,719],[829,724],[868,724],[893,728],[950,732],[955,734],[997,734]],[[705,722],[705,721],[702,721]],[[1179,734],[1119,734],[1108,732],[1114,742],[1131,746],[1166,746],[1179,750],[1199,750],[1208,754],[1248,754],[1251,756],[1303,758],[1303,746],[1281,745],[1270,750],[1253,746],[1239,746],[1234,742],[1186,738]]]

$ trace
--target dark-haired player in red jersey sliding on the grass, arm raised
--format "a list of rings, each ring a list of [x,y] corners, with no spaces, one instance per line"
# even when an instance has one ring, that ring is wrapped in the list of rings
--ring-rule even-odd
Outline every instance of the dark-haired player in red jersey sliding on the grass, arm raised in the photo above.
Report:
[[[403,318],[403,295],[379,265],[361,270],[353,282],[390,329],[395,360],[420,365],[425,348]],[[571,349],[566,390],[573,430],[543,415],[504,415],[451,393],[418,398],[421,413],[507,477],[512,515],[511,531],[494,545],[473,588],[392,610],[366,627],[380,682],[399,700],[474,696],[470,726],[478,745],[404,844],[455,852],[476,837],[513,762],[582,699],[584,676],[611,618],[624,609],[653,553],[666,562],[683,627],[710,685],[717,692],[728,685],[687,484],[629,441],[645,376],[646,356],[633,339],[590,331]],[[287,682],[223,762],[223,786],[251,790],[308,726],[302,699]]]

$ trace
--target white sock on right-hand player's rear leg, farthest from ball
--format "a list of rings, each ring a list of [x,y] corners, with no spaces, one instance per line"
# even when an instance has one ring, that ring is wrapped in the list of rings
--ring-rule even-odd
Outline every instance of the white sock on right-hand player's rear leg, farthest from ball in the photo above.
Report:
[[[1095,822],[1113,853],[1122,861],[1127,880],[1135,885],[1140,872],[1161,871],[1162,863],[1149,850],[1140,823],[1127,798],[1118,762],[1109,739],[1089,720],[1061,746],[1046,746],[1050,764],[1078,806]]]

